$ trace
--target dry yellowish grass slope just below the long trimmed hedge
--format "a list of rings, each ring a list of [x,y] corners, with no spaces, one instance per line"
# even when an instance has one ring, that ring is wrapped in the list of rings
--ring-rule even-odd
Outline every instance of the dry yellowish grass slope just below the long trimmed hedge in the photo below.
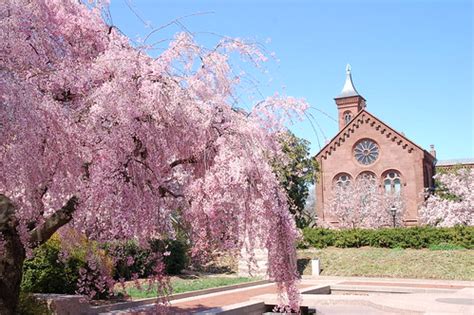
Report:
[[[298,251],[302,274],[311,273],[310,258],[321,260],[321,275],[474,280],[474,250],[436,247],[335,248]]]

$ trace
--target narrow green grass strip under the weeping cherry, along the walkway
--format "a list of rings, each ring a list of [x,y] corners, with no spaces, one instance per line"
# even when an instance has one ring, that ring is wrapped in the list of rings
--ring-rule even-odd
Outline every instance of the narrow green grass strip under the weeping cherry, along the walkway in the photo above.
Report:
[[[190,291],[217,288],[227,285],[245,283],[255,281],[255,278],[246,277],[202,277],[198,279],[182,279],[178,277],[171,278],[171,287],[173,294],[184,293]],[[142,299],[156,297],[156,289],[147,290],[147,286],[143,286],[141,290],[131,286],[127,289],[127,294],[132,299]]]

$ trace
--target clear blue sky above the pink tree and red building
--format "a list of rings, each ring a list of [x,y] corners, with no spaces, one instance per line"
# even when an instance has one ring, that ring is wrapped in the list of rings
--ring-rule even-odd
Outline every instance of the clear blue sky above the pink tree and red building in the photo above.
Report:
[[[112,0],[110,10],[132,39],[209,12],[180,22],[205,46],[216,34],[264,44],[279,61],[268,65],[261,93],[284,89],[334,118],[350,63],[367,110],[425,149],[435,144],[438,159],[474,157],[472,1]],[[154,36],[181,30],[172,25]],[[314,117],[326,138],[337,133],[335,121]],[[308,122],[291,129],[319,151]]]

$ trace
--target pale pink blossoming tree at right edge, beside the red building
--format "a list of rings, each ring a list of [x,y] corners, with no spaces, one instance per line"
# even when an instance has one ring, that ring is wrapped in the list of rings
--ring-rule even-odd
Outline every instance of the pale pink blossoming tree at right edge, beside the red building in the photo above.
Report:
[[[435,226],[474,225],[474,169],[436,175],[438,191],[420,209],[420,219]]]

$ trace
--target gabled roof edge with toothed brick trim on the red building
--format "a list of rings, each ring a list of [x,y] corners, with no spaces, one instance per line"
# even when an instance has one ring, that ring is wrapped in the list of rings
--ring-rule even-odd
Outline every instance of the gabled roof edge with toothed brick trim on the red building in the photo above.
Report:
[[[352,120],[344,126],[332,139],[326,144],[315,156],[315,158],[321,157],[326,159],[327,155],[333,151],[336,151],[337,147],[341,145],[343,141],[351,136],[354,133],[355,129],[362,124],[368,124],[372,128],[379,130],[381,134],[385,135],[387,138],[391,139],[393,142],[396,142],[402,149],[407,150],[408,153],[411,153],[413,150],[421,150],[430,157],[434,157],[426,150],[424,150],[419,145],[415,144],[413,141],[405,137],[403,134],[399,133],[365,109],[362,109]]]

